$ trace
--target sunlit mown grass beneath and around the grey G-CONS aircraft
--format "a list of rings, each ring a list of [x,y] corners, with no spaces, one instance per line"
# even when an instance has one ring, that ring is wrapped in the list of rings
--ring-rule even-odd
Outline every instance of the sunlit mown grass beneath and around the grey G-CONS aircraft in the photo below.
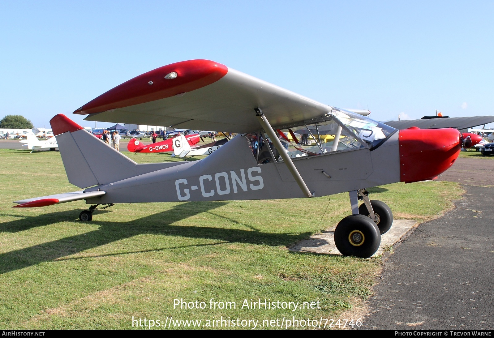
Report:
[[[123,147],[124,148],[124,147]],[[128,154],[139,163],[177,161]],[[11,201],[79,190],[58,152],[0,150],[0,327],[132,328],[163,320],[333,318],[371,293],[380,258],[289,252],[293,243],[351,213],[348,194],[315,199],[120,204],[82,223],[83,202],[11,209]],[[182,161],[182,160],[178,160]],[[111,164],[108,165],[111,170]],[[455,183],[370,189],[395,218],[426,220],[450,209]],[[323,213],[329,208],[323,217]],[[173,308],[174,299],[206,309]],[[209,300],[236,309],[209,309]],[[242,309],[244,299],[319,301],[320,309]],[[207,324],[206,324],[207,325]],[[260,324],[259,324],[260,325]]]

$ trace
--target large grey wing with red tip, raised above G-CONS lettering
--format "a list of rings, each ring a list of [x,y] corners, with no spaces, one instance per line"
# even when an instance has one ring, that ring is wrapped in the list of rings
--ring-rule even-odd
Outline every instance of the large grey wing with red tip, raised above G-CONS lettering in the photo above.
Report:
[[[303,76],[303,70],[290,70]],[[331,107],[209,60],[173,63],[98,96],[74,114],[84,120],[244,133],[260,129],[254,108],[274,127],[320,117]]]

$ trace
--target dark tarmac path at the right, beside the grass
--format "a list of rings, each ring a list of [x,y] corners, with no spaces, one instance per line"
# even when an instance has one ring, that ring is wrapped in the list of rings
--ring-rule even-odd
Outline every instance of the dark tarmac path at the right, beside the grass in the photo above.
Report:
[[[494,161],[460,158],[439,179],[493,185]],[[463,187],[452,211],[385,260],[360,329],[494,329],[494,188]]]

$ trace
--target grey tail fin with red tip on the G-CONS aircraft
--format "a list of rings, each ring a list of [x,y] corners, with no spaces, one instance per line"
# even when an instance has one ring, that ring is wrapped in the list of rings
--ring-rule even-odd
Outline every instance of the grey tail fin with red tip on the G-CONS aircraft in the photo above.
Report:
[[[81,126],[58,114],[50,120],[69,182],[87,188],[153,171],[138,165]],[[160,168],[161,169],[161,168]]]

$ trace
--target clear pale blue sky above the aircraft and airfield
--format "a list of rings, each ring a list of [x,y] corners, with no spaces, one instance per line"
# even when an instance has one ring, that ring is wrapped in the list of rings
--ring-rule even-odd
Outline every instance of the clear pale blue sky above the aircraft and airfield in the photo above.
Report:
[[[71,113],[196,58],[375,120],[494,115],[493,16],[492,1],[1,0],[0,118],[92,127]]]

